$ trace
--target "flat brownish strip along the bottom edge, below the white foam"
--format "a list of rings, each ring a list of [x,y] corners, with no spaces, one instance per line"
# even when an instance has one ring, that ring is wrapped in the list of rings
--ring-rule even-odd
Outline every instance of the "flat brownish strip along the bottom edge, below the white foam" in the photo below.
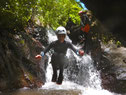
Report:
[[[0,95],[81,95],[80,90],[18,90],[9,93],[0,93]]]

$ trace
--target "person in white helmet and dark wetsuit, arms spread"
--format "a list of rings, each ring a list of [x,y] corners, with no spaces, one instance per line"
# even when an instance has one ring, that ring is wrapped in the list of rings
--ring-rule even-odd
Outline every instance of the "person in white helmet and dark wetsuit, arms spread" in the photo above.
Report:
[[[50,43],[44,51],[40,53],[40,55],[37,55],[36,57],[43,57],[51,48],[54,50],[54,53],[51,57],[51,64],[53,68],[53,75],[52,75],[52,82],[56,82],[57,84],[62,84],[63,81],[63,70],[65,67],[65,64],[67,64],[68,59],[66,57],[67,49],[72,49],[78,56],[83,56],[84,51],[83,50],[77,50],[73,46],[72,43],[65,40],[65,37],[67,35],[66,29],[62,26],[58,27],[56,29],[56,34],[58,40]],[[57,75],[57,71],[59,70],[59,75]]]

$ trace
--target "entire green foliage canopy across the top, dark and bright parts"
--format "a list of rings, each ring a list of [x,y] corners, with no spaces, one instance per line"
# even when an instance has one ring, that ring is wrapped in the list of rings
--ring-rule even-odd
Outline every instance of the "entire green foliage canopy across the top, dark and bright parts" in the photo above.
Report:
[[[79,10],[75,0],[0,0],[0,27],[21,29],[34,18],[54,29],[69,18],[79,24]]]

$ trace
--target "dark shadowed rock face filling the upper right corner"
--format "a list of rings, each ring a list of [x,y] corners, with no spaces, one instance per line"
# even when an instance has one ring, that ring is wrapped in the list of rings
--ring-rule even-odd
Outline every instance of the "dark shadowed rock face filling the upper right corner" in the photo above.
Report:
[[[93,12],[97,19],[106,27],[107,31],[112,32],[118,40],[126,45],[126,9],[125,0],[81,0],[86,7]]]

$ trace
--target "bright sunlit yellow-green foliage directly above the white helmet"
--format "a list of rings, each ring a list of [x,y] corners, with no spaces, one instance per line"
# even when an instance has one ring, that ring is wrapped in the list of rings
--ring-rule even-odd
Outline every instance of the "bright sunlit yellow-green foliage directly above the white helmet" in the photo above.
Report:
[[[60,25],[65,26],[69,18],[79,24],[79,10],[81,8],[75,0],[40,0],[37,18],[44,26],[50,25],[55,29]]]

